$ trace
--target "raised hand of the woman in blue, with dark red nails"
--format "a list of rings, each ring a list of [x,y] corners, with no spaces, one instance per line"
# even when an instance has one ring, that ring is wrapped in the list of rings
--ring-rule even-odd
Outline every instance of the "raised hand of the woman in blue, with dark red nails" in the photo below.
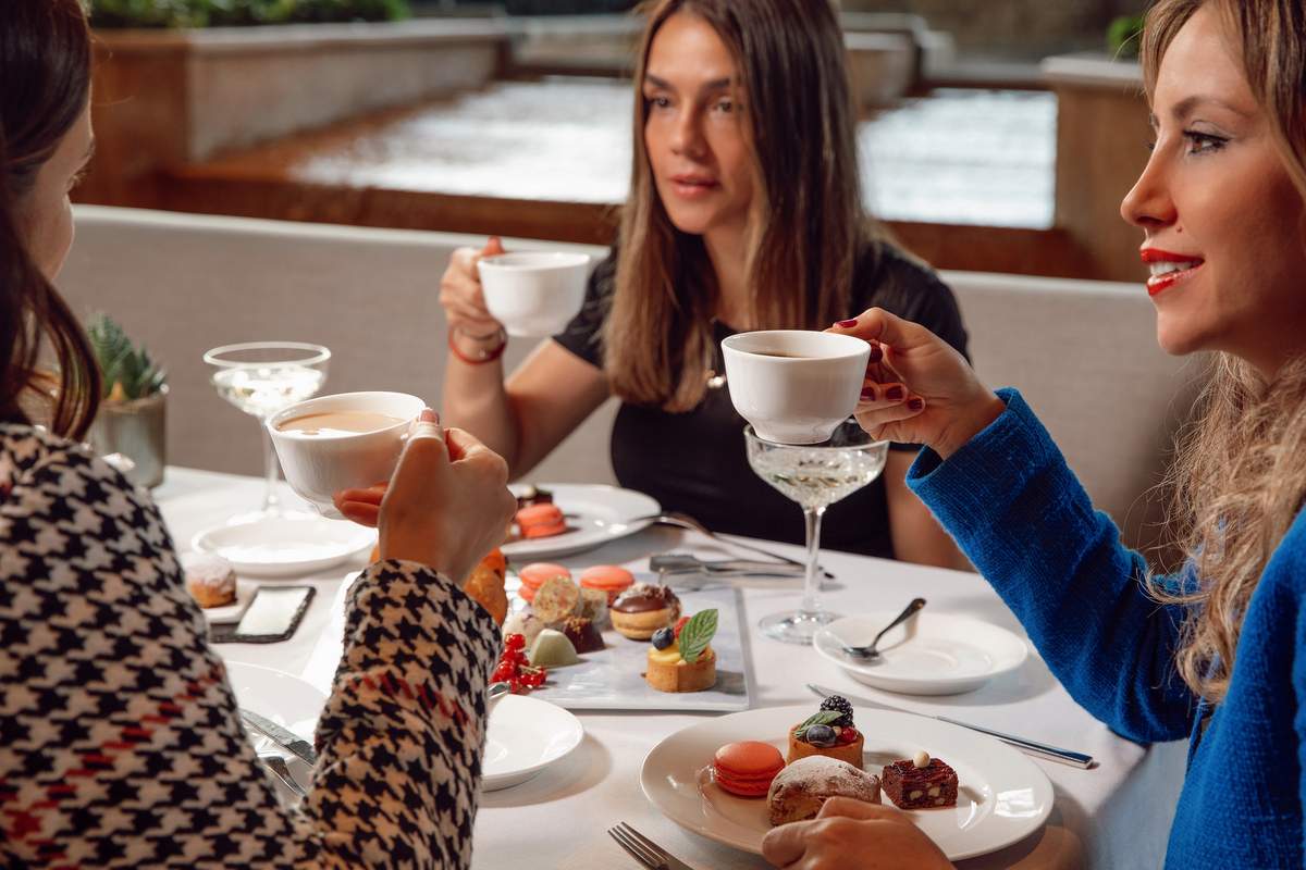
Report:
[[[883,308],[827,331],[871,343],[855,416],[875,438],[925,443],[948,458],[1006,410],[956,348]]]

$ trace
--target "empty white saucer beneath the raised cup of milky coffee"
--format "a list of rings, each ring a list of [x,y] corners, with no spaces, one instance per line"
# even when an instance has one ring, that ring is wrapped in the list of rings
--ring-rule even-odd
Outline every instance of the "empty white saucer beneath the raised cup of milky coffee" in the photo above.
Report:
[[[291,577],[340,565],[376,544],[376,531],[340,519],[296,515],[206,528],[193,549],[222,556],[239,574]]]

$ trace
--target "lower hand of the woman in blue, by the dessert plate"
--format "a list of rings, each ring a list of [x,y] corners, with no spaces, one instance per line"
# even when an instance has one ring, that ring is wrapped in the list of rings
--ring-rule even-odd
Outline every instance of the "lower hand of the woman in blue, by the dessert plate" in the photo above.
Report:
[[[943,870],[947,856],[891,806],[832,797],[811,822],[772,828],[761,857],[786,870]]]

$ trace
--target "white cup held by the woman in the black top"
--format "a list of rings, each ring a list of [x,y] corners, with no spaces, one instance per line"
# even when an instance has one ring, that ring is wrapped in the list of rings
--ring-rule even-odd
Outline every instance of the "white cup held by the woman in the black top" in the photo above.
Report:
[[[486,308],[508,335],[560,333],[585,301],[588,254],[521,250],[483,257],[477,269]]]

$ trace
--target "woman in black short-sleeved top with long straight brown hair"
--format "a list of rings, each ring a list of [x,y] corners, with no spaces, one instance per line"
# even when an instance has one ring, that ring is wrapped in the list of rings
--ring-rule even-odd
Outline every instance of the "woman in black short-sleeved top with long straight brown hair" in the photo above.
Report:
[[[520,477],[610,395],[613,466],[710,528],[799,543],[793,502],[750,471],[744,421],[718,372],[721,339],[824,329],[878,305],[965,352],[951,291],[896,250],[862,209],[855,112],[828,0],[662,0],[636,70],[635,159],[613,254],[585,307],[504,383],[507,340],[477,260],[441,283],[445,416]],[[888,385],[888,389],[904,389]],[[904,485],[914,447],[831,507],[831,548],[952,565],[956,550]]]

